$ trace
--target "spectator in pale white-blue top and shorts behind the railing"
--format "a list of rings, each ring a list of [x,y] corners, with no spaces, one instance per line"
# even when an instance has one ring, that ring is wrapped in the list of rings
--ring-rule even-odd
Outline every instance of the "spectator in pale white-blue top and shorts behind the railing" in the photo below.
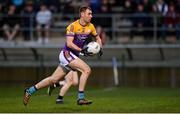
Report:
[[[36,22],[37,22],[37,35],[39,43],[48,43],[49,42],[49,30],[51,24],[52,13],[47,8],[45,4],[41,4],[40,11],[37,12]],[[44,35],[42,34],[44,33]]]

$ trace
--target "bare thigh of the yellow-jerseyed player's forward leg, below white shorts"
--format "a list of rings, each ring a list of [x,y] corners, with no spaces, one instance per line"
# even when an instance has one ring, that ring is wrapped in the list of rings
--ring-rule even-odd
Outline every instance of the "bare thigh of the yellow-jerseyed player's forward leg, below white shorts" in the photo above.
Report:
[[[80,58],[76,58],[68,64],[71,68],[79,70],[80,72],[90,72],[90,67]]]

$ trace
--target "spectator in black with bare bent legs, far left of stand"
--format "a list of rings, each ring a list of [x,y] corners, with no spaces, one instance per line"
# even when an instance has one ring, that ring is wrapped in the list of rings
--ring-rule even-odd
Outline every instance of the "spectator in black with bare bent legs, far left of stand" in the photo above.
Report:
[[[3,30],[7,40],[13,40],[20,29],[20,19],[15,12],[16,7],[14,5],[10,5],[8,14],[4,18]]]

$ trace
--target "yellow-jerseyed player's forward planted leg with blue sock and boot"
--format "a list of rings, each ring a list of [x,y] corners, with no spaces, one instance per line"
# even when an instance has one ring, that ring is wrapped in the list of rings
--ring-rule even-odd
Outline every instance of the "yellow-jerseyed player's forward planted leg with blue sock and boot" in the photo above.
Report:
[[[73,60],[69,66],[71,68],[77,69],[81,72],[80,81],[79,81],[79,93],[78,93],[78,105],[88,105],[92,101],[85,100],[84,89],[86,86],[87,79],[91,73],[91,68],[81,59],[77,58]]]

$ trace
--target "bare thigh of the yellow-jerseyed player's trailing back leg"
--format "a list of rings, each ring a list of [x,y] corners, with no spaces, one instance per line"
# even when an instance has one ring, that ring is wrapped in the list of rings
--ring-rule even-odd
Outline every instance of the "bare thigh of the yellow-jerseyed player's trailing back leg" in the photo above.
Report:
[[[64,75],[66,74],[66,72],[63,70],[63,68],[61,66],[58,66],[56,68],[56,70],[54,71],[54,73],[51,75],[52,77],[56,78],[56,79],[60,79],[62,78]]]

